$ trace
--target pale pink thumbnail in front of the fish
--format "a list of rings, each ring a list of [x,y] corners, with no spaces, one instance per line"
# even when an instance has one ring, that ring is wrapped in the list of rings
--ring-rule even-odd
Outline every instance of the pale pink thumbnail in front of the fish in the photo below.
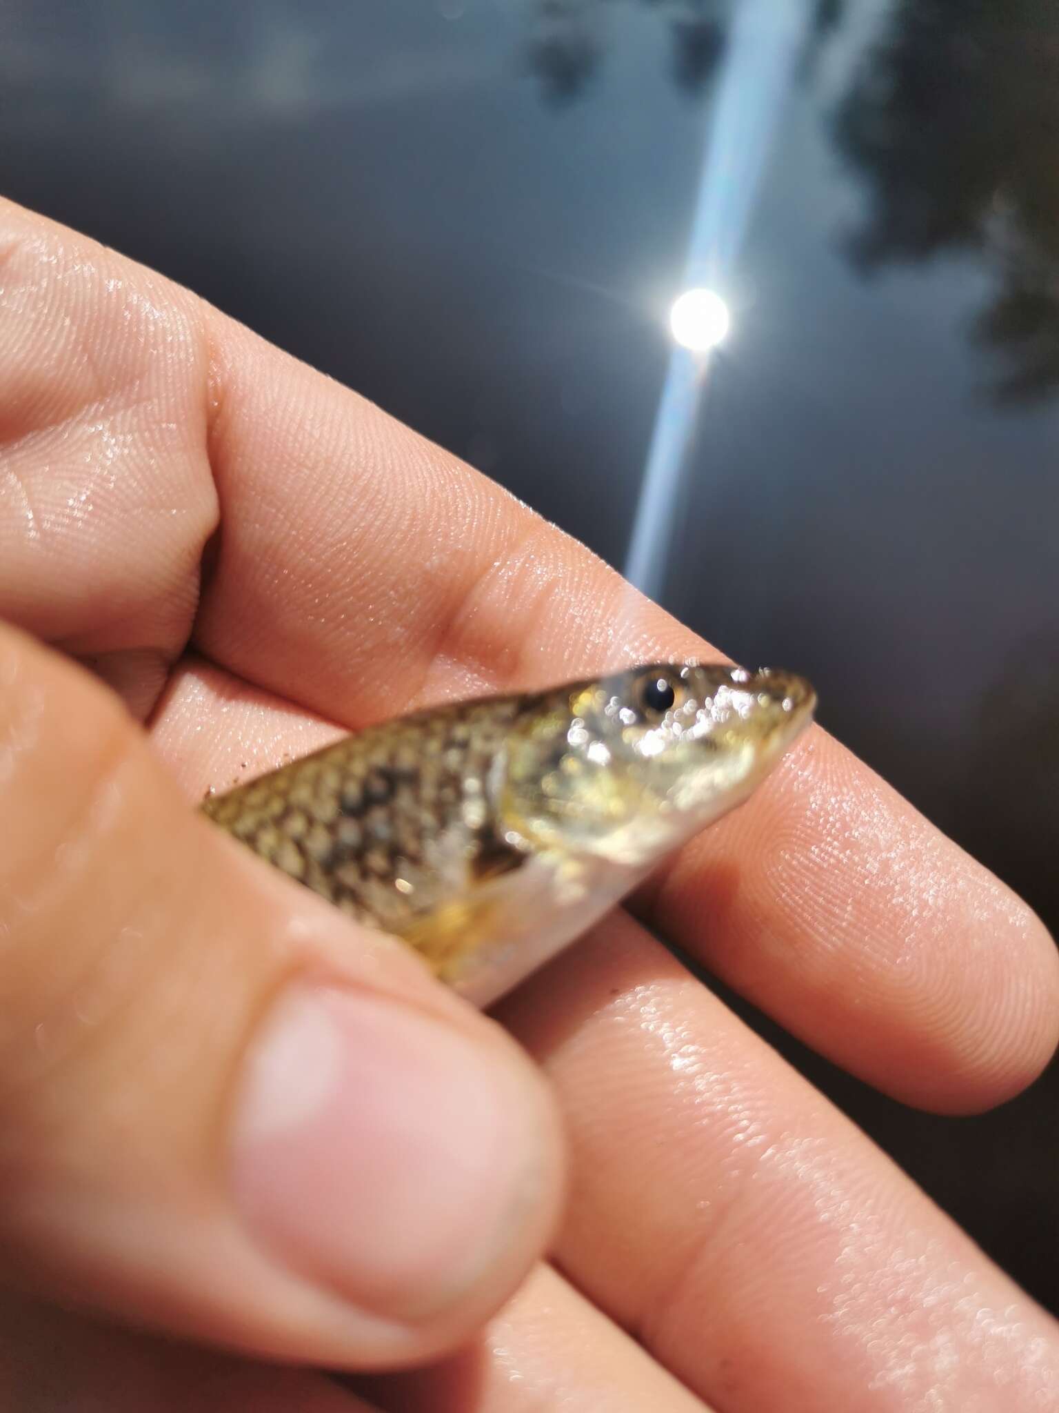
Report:
[[[373,1314],[487,1275],[539,1193],[542,1105],[505,1056],[374,993],[297,985],[237,1095],[233,1188],[260,1243]]]

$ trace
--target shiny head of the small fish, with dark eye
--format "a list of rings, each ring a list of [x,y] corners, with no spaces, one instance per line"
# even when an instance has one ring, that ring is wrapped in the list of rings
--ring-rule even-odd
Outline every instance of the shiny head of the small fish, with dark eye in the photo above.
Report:
[[[805,678],[654,663],[527,701],[500,783],[508,839],[650,866],[755,788],[812,719]]]

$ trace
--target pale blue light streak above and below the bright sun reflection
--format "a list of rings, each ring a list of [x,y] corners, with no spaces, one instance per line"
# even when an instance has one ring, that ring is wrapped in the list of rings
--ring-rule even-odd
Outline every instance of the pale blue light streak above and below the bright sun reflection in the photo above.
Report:
[[[706,133],[685,290],[731,288],[808,23],[805,0],[736,7]],[[665,588],[681,472],[707,372],[707,353],[674,348],[669,355],[626,560],[626,577],[651,598]]]

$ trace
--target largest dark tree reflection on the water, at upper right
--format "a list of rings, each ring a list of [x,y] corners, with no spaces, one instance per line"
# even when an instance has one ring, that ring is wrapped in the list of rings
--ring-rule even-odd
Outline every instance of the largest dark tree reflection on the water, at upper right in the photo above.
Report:
[[[858,266],[983,254],[997,294],[974,336],[998,401],[1059,389],[1059,7],[901,0],[834,123],[868,178]]]

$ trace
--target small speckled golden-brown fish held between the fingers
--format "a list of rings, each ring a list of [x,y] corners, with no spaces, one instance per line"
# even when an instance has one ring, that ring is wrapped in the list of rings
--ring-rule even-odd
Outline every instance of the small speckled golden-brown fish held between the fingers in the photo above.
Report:
[[[202,810],[484,1006],[741,804],[815,704],[658,663],[369,726]]]

